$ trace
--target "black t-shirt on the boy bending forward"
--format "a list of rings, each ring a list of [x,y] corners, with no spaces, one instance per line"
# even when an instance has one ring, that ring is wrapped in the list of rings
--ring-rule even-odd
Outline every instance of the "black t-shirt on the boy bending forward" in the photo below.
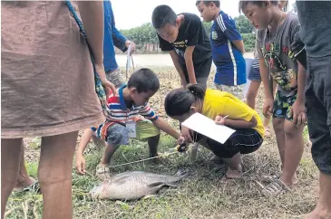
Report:
[[[208,76],[209,72],[199,71],[199,69],[204,68],[205,64],[211,64],[208,62],[212,59],[209,36],[198,15],[190,13],[182,14],[184,15],[184,21],[180,24],[180,30],[174,43],[169,43],[158,35],[161,51],[175,50],[180,56],[181,65],[185,68],[184,70],[186,70],[184,52],[187,46],[195,46],[192,60],[196,76],[198,76],[198,74],[200,77]]]

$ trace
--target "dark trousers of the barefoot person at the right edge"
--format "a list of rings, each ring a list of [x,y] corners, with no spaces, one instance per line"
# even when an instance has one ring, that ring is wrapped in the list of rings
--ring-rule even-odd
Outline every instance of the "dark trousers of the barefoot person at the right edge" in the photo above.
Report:
[[[318,169],[331,176],[331,55],[307,58],[306,108],[309,138]]]

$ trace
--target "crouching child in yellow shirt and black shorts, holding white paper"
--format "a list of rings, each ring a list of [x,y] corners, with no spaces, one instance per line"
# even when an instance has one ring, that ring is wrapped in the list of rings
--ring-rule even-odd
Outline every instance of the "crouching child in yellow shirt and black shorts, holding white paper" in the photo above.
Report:
[[[187,141],[199,141],[229,165],[223,179],[239,178],[242,171],[240,155],[252,153],[262,145],[264,129],[257,111],[228,92],[205,90],[200,84],[193,84],[170,91],[164,108],[168,116],[180,122],[199,112],[219,125],[236,129],[224,144],[220,144],[197,133],[191,135],[190,129],[181,128]]]

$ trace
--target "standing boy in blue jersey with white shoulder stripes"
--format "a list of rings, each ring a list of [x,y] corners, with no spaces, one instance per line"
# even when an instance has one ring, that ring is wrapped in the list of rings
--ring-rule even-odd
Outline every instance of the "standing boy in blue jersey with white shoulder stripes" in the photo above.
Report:
[[[196,5],[205,22],[211,22],[210,40],[212,58],[216,65],[215,87],[244,99],[246,62],[242,37],[234,20],[219,8],[219,1],[197,1]]]

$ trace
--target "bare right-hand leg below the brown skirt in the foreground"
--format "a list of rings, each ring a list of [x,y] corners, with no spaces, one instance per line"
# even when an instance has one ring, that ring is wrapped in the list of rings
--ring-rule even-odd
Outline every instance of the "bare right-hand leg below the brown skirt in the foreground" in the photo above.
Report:
[[[77,131],[43,137],[38,179],[43,191],[43,218],[73,218],[72,170]]]

